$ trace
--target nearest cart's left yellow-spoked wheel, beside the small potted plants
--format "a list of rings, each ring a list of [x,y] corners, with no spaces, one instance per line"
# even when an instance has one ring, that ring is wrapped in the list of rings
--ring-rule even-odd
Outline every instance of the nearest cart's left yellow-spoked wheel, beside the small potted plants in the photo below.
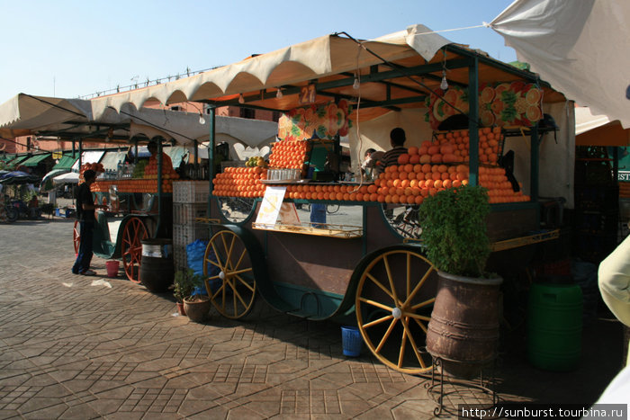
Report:
[[[211,237],[203,255],[203,277],[212,305],[223,317],[245,317],[256,297],[254,269],[241,237],[221,230]]]

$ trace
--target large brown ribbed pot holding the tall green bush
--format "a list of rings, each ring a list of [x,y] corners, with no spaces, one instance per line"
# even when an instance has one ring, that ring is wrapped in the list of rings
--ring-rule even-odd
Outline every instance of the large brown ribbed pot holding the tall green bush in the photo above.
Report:
[[[502,279],[475,279],[438,272],[436,302],[428,323],[427,351],[445,374],[470,379],[497,357],[499,286]]]

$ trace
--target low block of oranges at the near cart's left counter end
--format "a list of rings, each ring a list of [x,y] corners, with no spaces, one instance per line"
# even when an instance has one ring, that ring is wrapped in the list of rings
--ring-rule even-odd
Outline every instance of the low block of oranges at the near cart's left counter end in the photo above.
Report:
[[[267,170],[264,167],[226,167],[224,172],[216,174],[212,183],[213,194],[227,197],[255,198],[265,195]]]

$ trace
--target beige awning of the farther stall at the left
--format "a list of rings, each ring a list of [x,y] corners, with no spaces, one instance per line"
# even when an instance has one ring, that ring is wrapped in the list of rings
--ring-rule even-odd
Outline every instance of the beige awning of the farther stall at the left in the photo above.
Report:
[[[17,94],[0,104],[0,136],[7,139],[28,135],[80,137],[123,143],[134,137],[162,137],[174,139],[180,145],[192,145],[194,140],[202,142],[210,137],[208,115],[201,124],[200,114],[196,112],[137,110],[126,104],[118,111],[107,108],[94,118],[93,105],[94,102],[81,99]],[[248,146],[257,146],[277,133],[277,123],[217,116],[215,130]]]

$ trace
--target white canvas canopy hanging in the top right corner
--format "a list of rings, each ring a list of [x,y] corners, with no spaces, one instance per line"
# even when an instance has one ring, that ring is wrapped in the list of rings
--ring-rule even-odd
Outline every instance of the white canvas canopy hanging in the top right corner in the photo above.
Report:
[[[630,127],[630,2],[517,0],[491,28],[568,99]]]

